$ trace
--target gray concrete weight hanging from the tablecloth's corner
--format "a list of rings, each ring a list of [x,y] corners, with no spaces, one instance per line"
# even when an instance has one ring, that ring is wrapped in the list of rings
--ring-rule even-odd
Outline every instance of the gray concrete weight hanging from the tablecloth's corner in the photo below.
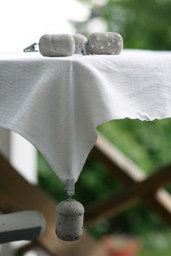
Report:
[[[74,199],[57,205],[56,233],[64,241],[78,240],[83,233],[84,207]]]

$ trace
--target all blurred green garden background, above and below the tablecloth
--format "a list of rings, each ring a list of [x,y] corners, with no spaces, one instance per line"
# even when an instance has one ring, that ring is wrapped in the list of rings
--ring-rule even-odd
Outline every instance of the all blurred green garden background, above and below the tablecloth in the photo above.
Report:
[[[93,21],[103,30],[116,31],[128,49],[171,50],[170,0],[85,0],[91,15],[84,22],[71,21],[77,33],[88,36]],[[101,23],[100,23],[101,22]],[[99,31],[96,28],[94,31]],[[149,175],[171,164],[171,120],[114,120],[98,130]],[[39,186],[57,202],[66,199],[64,185],[38,153]],[[123,186],[101,163],[88,157],[76,183],[75,199],[91,205],[120,191]],[[171,186],[167,188],[171,191]],[[99,193],[100,191],[100,193]],[[138,236],[142,241],[140,256],[171,255],[171,231],[162,220],[141,202],[110,220],[100,220],[89,228],[100,239],[110,233]]]

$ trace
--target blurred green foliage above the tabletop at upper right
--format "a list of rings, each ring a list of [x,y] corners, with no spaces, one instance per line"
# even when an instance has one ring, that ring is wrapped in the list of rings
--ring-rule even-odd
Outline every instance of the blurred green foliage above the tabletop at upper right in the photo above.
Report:
[[[107,30],[121,33],[125,48],[171,49],[170,0],[109,0],[102,7],[83,2],[92,4],[90,20],[98,17]]]

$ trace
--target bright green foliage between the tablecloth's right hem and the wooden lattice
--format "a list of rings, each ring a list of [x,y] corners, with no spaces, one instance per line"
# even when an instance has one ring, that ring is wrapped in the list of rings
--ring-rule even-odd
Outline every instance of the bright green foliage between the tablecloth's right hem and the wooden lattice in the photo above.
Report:
[[[171,162],[171,119],[146,122],[114,120],[99,127],[107,139],[118,146],[147,174]]]

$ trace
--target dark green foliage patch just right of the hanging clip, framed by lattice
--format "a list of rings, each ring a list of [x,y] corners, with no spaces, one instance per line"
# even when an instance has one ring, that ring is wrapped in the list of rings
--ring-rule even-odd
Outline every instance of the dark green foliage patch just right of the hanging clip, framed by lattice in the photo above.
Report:
[[[113,191],[120,191],[122,185],[104,165],[88,157],[75,189],[75,197],[87,206],[109,197]]]

